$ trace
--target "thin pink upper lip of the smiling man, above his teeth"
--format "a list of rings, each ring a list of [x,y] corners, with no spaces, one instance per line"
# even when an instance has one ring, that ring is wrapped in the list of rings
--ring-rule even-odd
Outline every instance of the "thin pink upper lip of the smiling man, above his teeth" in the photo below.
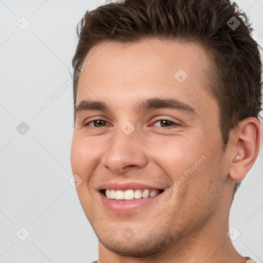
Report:
[[[163,190],[163,188],[160,188],[160,186],[153,186],[146,183],[138,183],[138,182],[108,182],[103,183],[98,187],[98,191],[104,190],[104,189],[115,189],[115,190],[129,190],[129,189],[159,189]]]

